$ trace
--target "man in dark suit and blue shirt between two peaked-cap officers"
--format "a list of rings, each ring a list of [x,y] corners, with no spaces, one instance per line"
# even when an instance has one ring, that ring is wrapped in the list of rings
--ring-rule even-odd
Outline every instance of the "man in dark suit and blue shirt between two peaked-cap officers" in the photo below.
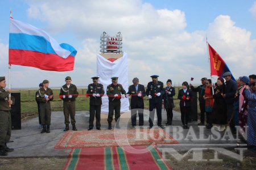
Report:
[[[139,114],[139,126],[143,126],[143,97],[146,96],[144,86],[139,84],[139,78],[133,78],[133,85],[129,86],[126,97],[131,96],[131,128],[136,126],[137,111]]]

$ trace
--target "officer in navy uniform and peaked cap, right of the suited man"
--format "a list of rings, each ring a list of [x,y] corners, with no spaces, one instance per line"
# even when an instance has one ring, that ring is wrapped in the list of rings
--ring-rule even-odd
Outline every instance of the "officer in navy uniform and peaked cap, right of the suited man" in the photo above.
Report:
[[[150,118],[148,120],[150,124],[149,128],[153,127],[155,109],[156,109],[156,114],[158,115],[158,126],[161,128],[164,128],[162,126],[162,95],[165,93],[164,85],[163,85],[163,82],[158,81],[157,77],[159,76],[153,75],[150,77],[152,77],[152,81],[148,82],[147,90],[146,90],[146,94],[149,97],[149,105],[150,105],[149,106]],[[159,93],[160,93],[160,96],[157,96]]]

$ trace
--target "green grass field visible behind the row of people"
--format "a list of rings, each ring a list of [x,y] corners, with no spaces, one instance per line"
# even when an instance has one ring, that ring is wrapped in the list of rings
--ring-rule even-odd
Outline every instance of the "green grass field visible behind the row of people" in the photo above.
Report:
[[[78,89],[79,94],[85,94],[86,89]],[[176,111],[180,111],[179,108],[179,99],[177,99],[177,92],[179,92],[179,88],[175,88],[176,95],[174,97],[175,109]],[[21,114],[32,114],[37,113],[37,105],[35,101],[35,93],[36,89],[20,89],[13,90],[13,93],[20,93],[20,103],[21,103]],[[63,102],[58,97],[60,93],[60,89],[53,89],[53,95],[55,96],[53,101],[51,101],[52,111],[62,111],[63,110]],[[148,109],[148,98],[144,98],[144,108]],[[86,98],[85,95],[78,96],[76,99],[76,110],[89,110],[89,98]]]

